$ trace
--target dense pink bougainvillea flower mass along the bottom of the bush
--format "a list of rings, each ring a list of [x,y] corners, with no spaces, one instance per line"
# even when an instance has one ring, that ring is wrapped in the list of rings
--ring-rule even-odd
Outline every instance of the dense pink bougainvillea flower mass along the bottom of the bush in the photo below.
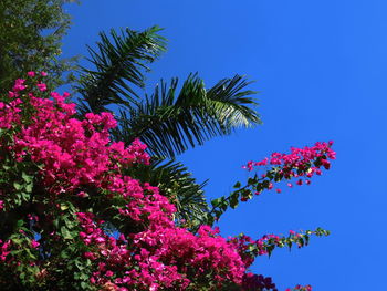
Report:
[[[244,264],[232,245],[216,230],[201,227],[198,236],[181,228],[161,228],[118,239],[108,237],[93,214],[79,212],[83,231],[80,238],[90,250],[83,257],[96,267],[91,282],[114,285],[117,290],[165,290],[185,288],[216,271],[222,282],[240,284]],[[118,289],[119,288],[119,289]]]

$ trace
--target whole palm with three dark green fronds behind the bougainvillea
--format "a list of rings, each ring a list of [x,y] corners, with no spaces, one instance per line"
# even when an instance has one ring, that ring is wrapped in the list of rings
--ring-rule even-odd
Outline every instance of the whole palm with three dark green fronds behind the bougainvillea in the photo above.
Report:
[[[158,186],[177,206],[176,219],[195,226],[208,211],[202,190],[207,181],[197,184],[175,158],[211,137],[259,124],[259,115],[250,107],[257,105],[250,97],[255,92],[244,90],[250,84],[244,76],[223,79],[206,89],[197,74],[190,74],[180,87],[177,77],[169,83],[161,80],[153,94],[145,94],[148,64],[166,51],[159,31],[153,27],[143,32],[100,33],[97,50],[88,46],[94,69],[80,69],[76,91],[81,113],[114,108],[118,121],[114,139],[130,144],[138,137],[147,144],[151,165],[127,169],[128,174]]]

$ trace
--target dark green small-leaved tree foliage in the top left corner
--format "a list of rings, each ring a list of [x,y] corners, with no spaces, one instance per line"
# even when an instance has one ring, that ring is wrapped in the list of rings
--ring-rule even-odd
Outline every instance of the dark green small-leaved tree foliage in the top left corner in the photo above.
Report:
[[[0,94],[28,71],[46,71],[51,87],[71,80],[63,73],[72,60],[60,59],[61,40],[70,27],[64,0],[0,1]]]

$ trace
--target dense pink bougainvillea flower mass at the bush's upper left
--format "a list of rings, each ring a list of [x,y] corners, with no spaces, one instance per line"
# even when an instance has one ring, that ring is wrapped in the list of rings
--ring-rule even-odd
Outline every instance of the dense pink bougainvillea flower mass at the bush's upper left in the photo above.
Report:
[[[44,164],[40,173],[44,185],[60,180],[61,189],[52,187],[60,193],[73,191],[84,184],[100,187],[108,172],[149,162],[146,146],[138,141],[128,148],[122,142],[111,143],[108,131],[116,126],[112,114],[88,113],[85,119],[76,119],[75,104],[65,103],[66,96],[51,93],[50,100],[29,94],[35,114],[14,136],[12,150],[19,162],[31,158]]]

